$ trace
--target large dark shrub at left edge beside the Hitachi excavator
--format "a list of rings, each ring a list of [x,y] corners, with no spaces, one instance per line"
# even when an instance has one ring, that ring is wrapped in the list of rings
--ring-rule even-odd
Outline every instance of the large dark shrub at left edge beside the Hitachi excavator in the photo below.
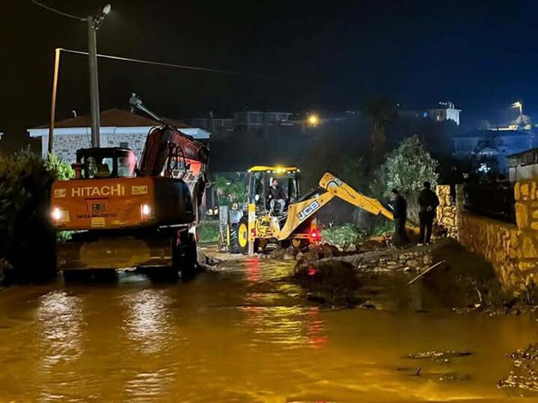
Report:
[[[23,149],[0,158],[0,259],[11,279],[38,279],[54,272],[56,233],[49,219],[50,186],[72,175],[57,159]],[[5,273],[4,273],[5,274]]]

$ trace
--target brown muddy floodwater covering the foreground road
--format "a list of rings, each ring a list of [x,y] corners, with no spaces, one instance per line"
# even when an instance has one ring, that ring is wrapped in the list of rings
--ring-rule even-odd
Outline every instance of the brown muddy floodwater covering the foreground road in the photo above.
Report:
[[[538,340],[528,316],[395,303],[379,284],[387,309],[326,309],[284,280],[293,263],[224,269],[0,289],[0,402],[538,401],[497,388],[506,354]],[[428,351],[472,354],[409,358]]]

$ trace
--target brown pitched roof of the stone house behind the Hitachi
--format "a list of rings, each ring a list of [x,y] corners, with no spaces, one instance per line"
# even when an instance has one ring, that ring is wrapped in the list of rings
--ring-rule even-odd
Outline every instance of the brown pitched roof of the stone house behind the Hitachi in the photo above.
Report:
[[[101,127],[145,127],[145,126],[159,126],[161,122],[135,115],[127,110],[122,109],[109,109],[103,110],[101,116]],[[163,118],[163,120],[178,128],[187,128],[187,124],[174,119]],[[78,117],[71,117],[69,119],[59,120],[54,123],[54,127],[57,129],[71,128],[71,127],[89,127],[91,126],[90,115],[83,115]],[[34,127],[32,129],[48,129],[49,125]],[[30,129],[31,130],[31,129]]]

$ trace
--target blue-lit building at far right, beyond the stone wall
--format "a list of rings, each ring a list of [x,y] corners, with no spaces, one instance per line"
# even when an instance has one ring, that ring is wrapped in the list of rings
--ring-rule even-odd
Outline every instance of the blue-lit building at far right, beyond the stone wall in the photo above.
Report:
[[[507,169],[506,157],[538,146],[538,136],[528,130],[476,130],[454,137],[454,154],[497,159],[501,171]]]

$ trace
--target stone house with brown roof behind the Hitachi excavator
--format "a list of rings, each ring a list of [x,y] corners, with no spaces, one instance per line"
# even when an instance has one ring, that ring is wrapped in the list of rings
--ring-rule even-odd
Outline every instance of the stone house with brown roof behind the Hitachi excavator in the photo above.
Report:
[[[187,135],[199,140],[210,138],[208,131],[189,127],[186,124],[166,119]],[[134,115],[126,110],[110,109],[101,112],[101,147],[128,147],[133,149],[138,159],[142,155],[147,133],[161,123],[147,117]],[[54,124],[54,144],[52,152],[66,162],[75,162],[77,149],[91,147],[92,129],[89,115],[71,117]],[[47,155],[49,126],[28,129],[32,138],[41,138],[41,154]]]

